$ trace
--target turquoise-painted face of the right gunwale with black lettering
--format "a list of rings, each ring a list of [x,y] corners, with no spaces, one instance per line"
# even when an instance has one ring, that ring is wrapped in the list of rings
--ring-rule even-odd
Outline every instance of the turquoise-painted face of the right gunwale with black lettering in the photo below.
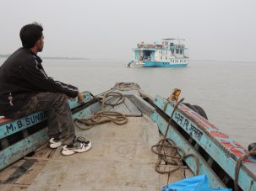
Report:
[[[168,103],[166,99],[161,98],[160,96],[156,96],[155,105],[159,109],[163,110],[167,115],[169,115],[169,117],[171,116],[174,108],[173,103]],[[182,107],[182,103],[180,105],[180,107]],[[186,106],[183,105],[183,107]],[[188,109],[188,111],[190,113],[193,113],[193,110],[191,109]],[[187,115],[185,115],[180,109],[177,109],[174,112],[172,119],[177,123],[177,125],[179,125],[180,128],[185,130],[188,135],[193,138],[193,141],[196,141],[199,146],[201,146],[204,151],[206,151],[210,155],[210,157],[212,157],[213,160],[217,162],[232,179],[235,178],[236,162],[238,158],[237,156],[232,154],[232,152],[228,148],[221,145],[221,141],[217,140],[213,135],[210,135],[211,130],[218,130],[212,129],[209,125],[206,125],[207,127],[205,129],[202,126],[204,125],[203,122],[199,124],[196,121],[189,119]],[[180,146],[178,144],[182,143],[177,142],[177,146]],[[249,159],[252,160],[252,158],[250,157]],[[250,164],[251,167],[253,167],[255,164],[253,161],[243,162],[243,165],[238,175],[238,185],[243,190],[256,190],[255,175],[250,172],[250,169],[248,167],[245,167],[245,163]]]

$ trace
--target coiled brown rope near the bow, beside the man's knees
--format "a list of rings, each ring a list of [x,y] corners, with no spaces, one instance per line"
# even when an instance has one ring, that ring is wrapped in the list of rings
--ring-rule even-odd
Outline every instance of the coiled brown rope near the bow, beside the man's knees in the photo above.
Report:
[[[86,92],[90,93],[90,92]],[[117,111],[105,111],[105,105],[110,105],[112,107],[124,103],[124,96],[122,93],[110,92],[103,95],[103,98],[94,96],[92,93],[90,95],[97,99],[101,103],[101,110],[96,112],[94,115],[84,116],[82,118],[74,119],[74,125],[76,125],[81,130],[89,130],[94,125],[105,124],[113,122],[116,125],[124,125],[128,123],[128,117],[141,117],[142,115],[133,114],[122,114]],[[106,103],[106,98],[111,96],[117,96],[117,101],[115,103]],[[85,126],[84,126],[85,125]]]

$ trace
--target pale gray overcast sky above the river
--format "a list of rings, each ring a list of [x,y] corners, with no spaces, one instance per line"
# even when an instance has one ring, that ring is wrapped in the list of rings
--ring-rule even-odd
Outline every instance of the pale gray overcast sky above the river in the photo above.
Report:
[[[0,54],[19,30],[44,27],[41,56],[130,60],[138,42],[180,37],[191,59],[256,61],[255,0],[1,0]]]

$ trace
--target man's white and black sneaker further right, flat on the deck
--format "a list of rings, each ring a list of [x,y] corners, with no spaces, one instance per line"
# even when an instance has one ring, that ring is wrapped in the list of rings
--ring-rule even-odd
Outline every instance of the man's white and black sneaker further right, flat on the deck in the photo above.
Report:
[[[71,146],[63,146],[63,155],[73,155],[74,153],[89,151],[91,148],[91,141],[85,141],[84,137],[75,137],[74,143]]]

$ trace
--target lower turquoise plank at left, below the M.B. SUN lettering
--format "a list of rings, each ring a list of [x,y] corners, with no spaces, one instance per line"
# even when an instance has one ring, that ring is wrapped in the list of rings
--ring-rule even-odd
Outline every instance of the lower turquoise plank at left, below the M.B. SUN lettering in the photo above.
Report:
[[[35,151],[37,147],[45,144],[48,139],[47,128],[45,128],[0,151],[0,170],[19,160],[19,158],[25,157],[31,151]]]

